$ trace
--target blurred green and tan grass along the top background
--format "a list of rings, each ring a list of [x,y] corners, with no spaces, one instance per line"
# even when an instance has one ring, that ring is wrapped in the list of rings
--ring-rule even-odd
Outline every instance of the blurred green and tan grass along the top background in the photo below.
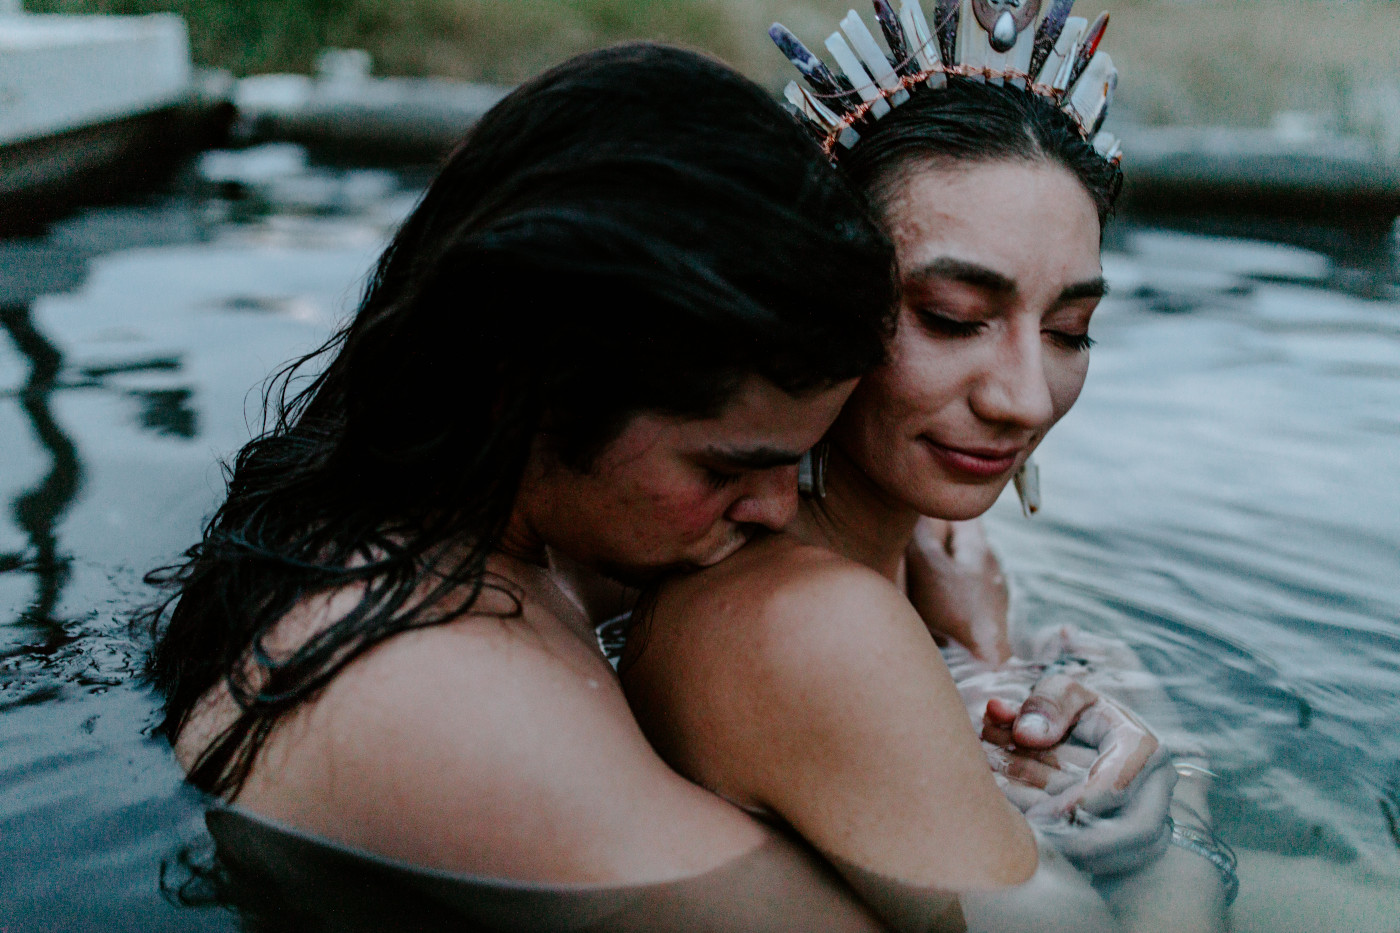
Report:
[[[780,87],[764,29],[813,48],[865,0],[27,0],[34,13],[185,15],[196,60],[238,74],[307,71],[321,48],[364,48],[382,74],[515,83],[627,38],[704,48]],[[1149,123],[1267,125],[1324,115],[1400,151],[1400,0],[1081,0],[1113,14],[1106,48],[1124,112]]]

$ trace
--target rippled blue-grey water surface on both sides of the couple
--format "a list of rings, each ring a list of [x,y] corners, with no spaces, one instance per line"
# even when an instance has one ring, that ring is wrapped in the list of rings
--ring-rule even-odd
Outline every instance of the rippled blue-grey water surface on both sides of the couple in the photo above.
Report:
[[[238,927],[162,894],[202,801],[147,734],[123,612],[417,181],[287,151],[235,170],[252,198],[0,241],[0,930]],[[1025,618],[1126,637],[1211,752],[1238,929],[1400,929],[1393,252],[1120,230],[1046,507],[990,518]]]

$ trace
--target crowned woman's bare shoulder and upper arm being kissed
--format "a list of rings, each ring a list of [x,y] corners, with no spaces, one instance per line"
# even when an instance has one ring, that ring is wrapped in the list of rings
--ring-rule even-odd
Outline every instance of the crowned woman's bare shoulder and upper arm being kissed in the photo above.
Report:
[[[623,682],[682,773],[781,815],[837,864],[916,887],[1033,871],[1029,829],[889,580],[774,538],[669,586],[643,625]]]

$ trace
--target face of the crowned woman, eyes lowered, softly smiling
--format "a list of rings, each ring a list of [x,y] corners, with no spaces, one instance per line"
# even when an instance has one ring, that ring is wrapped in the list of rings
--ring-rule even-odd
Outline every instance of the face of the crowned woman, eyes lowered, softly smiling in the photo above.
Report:
[[[997,161],[910,170],[886,219],[899,325],[834,437],[890,499],[972,518],[1084,387],[1098,213],[1067,170]]]

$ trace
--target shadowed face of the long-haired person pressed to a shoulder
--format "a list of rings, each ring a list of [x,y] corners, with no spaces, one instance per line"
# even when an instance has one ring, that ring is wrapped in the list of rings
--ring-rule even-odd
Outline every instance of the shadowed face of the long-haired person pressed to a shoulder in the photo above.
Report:
[[[641,413],[591,469],[553,465],[532,483],[540,539],[623,580],[704,567],[797,513],[797,462],[855,380],[794,396],[749,377],[715,417]]]

